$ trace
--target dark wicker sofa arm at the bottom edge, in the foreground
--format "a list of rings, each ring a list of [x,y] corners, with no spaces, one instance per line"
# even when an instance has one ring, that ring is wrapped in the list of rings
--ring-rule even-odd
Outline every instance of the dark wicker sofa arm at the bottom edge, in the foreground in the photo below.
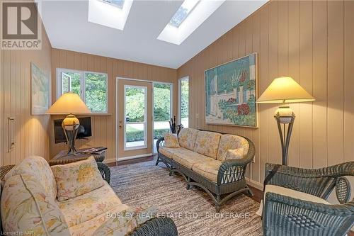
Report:
[[[177,236],[177,227],[171,218],[153,218],[140,225],[131,236]]]

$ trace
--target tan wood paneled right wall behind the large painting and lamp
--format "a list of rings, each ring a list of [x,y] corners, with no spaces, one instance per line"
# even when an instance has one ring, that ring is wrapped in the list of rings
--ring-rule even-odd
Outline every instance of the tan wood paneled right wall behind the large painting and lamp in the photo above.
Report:
[[[205,124],[205,69],[258,53],[258,96],[289,75],[312,94],[295,103],[289,164],[325,167],[354,160],[354,1],[270,1],[183,64],[190,78],[190,127],[245,135],[256,145],[248,176],[263,183],[266,162],[281,163],[276,105],[259,105],[259,128]]]

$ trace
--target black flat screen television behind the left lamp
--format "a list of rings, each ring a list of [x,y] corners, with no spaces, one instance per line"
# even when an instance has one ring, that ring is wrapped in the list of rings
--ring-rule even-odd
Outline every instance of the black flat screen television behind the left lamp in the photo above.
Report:
[[[80,121],[79,128],[77,130],[76,140],[91,137],[91,117],[78,118]],[[63,120],[54,120],[54,137],[55,143],[67,142],[64,130],[62,128]]]

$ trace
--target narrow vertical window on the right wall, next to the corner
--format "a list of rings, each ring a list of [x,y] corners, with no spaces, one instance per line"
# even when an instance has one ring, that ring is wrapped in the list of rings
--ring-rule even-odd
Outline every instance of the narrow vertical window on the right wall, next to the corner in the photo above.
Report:
[[[184,128],[188,128],[189,118],[189,78],[178,80],[178,118]]]

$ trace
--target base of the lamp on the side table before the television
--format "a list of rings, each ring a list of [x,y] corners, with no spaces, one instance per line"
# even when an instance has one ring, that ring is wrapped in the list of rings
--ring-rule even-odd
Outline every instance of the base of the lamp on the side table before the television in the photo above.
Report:
[[[62,128],[64,130],[65,137],[67,137],[68,153],[76,155],[75,140],[77,135],[77,130],[79,128],[80,121],[73,114],[69,114],[64,118],[62,122]]]

